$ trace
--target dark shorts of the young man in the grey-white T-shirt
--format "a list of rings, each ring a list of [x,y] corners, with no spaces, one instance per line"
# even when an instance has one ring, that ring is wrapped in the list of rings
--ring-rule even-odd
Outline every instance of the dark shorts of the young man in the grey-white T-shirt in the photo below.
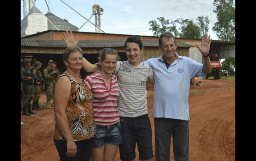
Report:
[[[120,117],[123,143],[119,145],[120,159],[130,161],[136,157],[136,142],[139,159],[153,158],[152,129],[148,114],[136,118]]]

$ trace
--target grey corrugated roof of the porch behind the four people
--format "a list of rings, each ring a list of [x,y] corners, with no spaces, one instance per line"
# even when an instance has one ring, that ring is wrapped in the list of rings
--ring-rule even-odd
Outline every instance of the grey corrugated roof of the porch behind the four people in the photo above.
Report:
[[[192,45],[177,41],[178,47],[192,47]],[[123,47],[125,40],[79,40],[77,46],[81,48]],[[157,47],[156,40],[142,40],[144,46]],[[23,47],[66,47],[64,40],[33,40],[21,39]]]

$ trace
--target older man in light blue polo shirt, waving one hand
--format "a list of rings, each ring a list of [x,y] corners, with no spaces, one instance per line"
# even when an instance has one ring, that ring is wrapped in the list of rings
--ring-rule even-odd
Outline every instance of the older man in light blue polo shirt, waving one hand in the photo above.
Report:
[[[170,32],[159,37],[159,58],[144,61],[155,75],[153,117],[155,120],[156,161],[170,160],[170,144],[173,134],[175,161],[189,160],[189,88],[194,75],[205,77],[211,72],[209,60],[211,39],[203,35],[201,46],[203,64],[175,51],[177,42]]]

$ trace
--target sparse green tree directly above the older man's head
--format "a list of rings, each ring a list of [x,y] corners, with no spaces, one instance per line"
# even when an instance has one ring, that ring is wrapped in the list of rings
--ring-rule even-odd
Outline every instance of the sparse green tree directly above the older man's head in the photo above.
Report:
[[[159,24],[160,23],[160,24]],[[154,36],[159,36],[160,34],[164,33],[164,32],[171,32],[175,37],[177,37],[179,35],[179,32],[177,30],[176,27],[176,20],[165,20],[164,17],[159,17],[156,20],[152,20],[149,22],[150,25],[150,29],[152,30],[154,33]]]

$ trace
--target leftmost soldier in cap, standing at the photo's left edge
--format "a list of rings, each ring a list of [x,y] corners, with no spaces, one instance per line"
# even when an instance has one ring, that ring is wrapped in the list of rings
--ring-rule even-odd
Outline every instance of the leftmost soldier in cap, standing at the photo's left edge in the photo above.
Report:
[[[31,62],[29,59],[24,60],[24,67],[21,68],[20,79],[23,84],[24,90],[24,102],[23,102],[23,115],[31,116],[30,114],[36,114],[31,110],[31,101],[34,95],[34,79],[30,76],[26,76],[26,71],[31,73],[29,67],[31,66]]]

